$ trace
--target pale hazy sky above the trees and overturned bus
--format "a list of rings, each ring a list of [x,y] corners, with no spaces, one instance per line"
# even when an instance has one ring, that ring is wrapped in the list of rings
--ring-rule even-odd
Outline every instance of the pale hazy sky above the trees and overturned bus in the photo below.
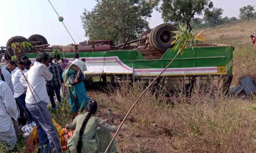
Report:
[[[84,9],[92,10],[95,0],[50,0],[70,31],[75,42],[87,40],[80,16]],[[221,7],[223,17],[238,17],[239,8],[256,5],[256,0],[212,0]],[[150,28],[163,23],[156,10],[149,19]],[[5,46],[14,36],[28,38],[33,34],[44,36],[51,45],[68,45],[72,39],[65,30],[48,0],[0,0],[0,46]]]

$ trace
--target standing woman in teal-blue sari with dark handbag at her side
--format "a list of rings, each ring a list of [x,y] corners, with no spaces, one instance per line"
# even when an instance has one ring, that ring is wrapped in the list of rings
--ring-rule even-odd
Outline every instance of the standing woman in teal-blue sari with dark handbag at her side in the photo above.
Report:
[[[69,98],[72,113],[76,114],[79,110],[84,110],[90,98],[86,94],[83,83],[85,77],[80,68],[71,64],[62,74],[62,78],[64,80],[64,91]]]

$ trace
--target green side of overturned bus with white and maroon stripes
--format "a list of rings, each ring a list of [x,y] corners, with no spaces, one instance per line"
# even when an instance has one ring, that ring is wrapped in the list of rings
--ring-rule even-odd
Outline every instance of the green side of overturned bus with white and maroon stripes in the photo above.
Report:
[[[233,47],[230,45],[187,48],[179,55],[163,76],[232,75]],[[87,76],[133,75],[134,77],[154,77],[174,58],[176,53],[168,49],[160,59],[145,59],[139,50],[114,50],[77,52],[80,59],[86,59]],[[35,61],[38,53],[28,53]],[[74,53],[61,55],[70,61]]]

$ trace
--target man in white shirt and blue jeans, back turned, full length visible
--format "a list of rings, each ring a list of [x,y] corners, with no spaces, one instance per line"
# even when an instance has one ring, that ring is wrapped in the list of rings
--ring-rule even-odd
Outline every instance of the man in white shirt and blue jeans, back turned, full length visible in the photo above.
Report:
[[[53,74],[47,66],[49,66],[49,55],[39,53],[34,65],[25,73],[25,77],[30,83],[26,92],[26,107],[31,112],[37,126],[41,153],[48,153],[50,150],[53,153],[60,153],[61,146],[57,129],[53,125],[51,114],[46,106],[49,103],[49,97],[45,80],[50,81],[53,78]],[[20,81],[22,85],[28,85],[24,76]]]

